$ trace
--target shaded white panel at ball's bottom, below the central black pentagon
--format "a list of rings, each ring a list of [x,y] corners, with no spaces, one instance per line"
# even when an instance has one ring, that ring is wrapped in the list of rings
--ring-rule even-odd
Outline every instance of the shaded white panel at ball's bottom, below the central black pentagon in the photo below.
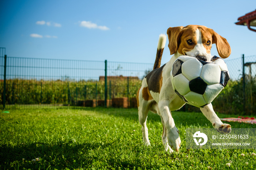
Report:
[[[188,92],[188,94],[184,95],[184,98],[189,101],[193,106],[201,107],[206,105],[203,95],[195,93],[193,91]]]

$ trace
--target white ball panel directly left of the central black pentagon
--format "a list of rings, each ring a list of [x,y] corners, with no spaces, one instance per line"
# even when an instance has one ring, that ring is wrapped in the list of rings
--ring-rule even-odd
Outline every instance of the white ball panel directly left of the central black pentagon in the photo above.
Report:
[[[180,93],[180,95],[187,94],[189,89],[189,80],[182,74],[178,74],[173,78],[174,86],[176,87],[177,91]]]

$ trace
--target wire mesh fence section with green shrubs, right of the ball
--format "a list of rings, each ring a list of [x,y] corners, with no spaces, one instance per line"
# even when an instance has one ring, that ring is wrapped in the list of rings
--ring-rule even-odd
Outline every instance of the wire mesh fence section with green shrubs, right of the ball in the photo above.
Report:
[[[251,115],[256,112],[256,55],[225,60],[230,80],[212,102],[222,113]]]

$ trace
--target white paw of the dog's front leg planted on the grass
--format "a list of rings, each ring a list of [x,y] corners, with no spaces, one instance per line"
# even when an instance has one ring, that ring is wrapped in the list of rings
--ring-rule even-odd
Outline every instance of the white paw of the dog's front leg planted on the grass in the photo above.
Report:
[[[177,152],[180,149],[180,136],[179,136],[179,131],[176,126],[174,126],[172,129],[170,129],[169,133],[167,131],[167,139],[168,139],[168,144],[170,146],[170,152],[172,153],[173,150],[176,150]]]

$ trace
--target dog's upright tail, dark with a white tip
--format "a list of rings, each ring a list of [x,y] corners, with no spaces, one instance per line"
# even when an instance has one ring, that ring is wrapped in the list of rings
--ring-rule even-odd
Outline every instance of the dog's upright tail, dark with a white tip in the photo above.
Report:
[[[165,48],[166,35],[159,35],[158,45],[157,45],[157,56],[155,57],[155,64],[153,70],[161,66],[161,59],[163,55],[163,49]]]

